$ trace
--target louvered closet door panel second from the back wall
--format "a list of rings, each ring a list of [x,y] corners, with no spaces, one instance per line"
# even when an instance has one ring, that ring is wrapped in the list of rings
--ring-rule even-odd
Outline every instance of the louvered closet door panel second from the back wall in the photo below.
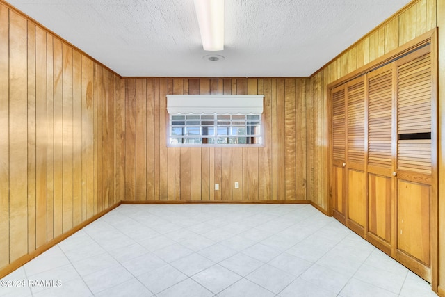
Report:
[[[346,83],[348,205],[347,226],[364,236],[366,196],[364,175],[364,77]]]

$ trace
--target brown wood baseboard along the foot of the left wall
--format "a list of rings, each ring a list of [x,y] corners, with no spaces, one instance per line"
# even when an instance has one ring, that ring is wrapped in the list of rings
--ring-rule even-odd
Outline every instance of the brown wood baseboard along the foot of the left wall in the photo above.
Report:
[[[88,220],[83,221],[81,224],[77,225],[76,227],[72,228],[71,230],[68,230],[67,232],[65,232],[63,234],[60,234],[59,236],[57,236],[56,238],[52,239],[51,241],[48,241],[43,246],[40,246],[40,248],[38,248],[37,250],[34,250],[33,252],[30,252],[27,255],[19,257],[19,259],[15,260],[14,262],[11,262],[5,268],[1,268],[0,269],[0,279],[4,278],[9,273],[12,273],[17,268],[23,266],[24,264],[30,262],[32,259],[34,259],[35,257],[38,257],[38,255],[41,255],[43,252],[46,252],[47,250],[49,250],[53,246],[56,246],[56,244],[60,243],[60,241],[63,241],[65,239],[67,239],[72,234],[74,234],[77,231],[81,230],[83,227],[86,227],[87,225],[89,225],[90,223],[94,222],[95,220],[97,220],[101,216],[104,216],[104,214],[108,214],[108,212],[112,211],[113,209],[118,207],[120,204],[121,203],[118,202],[118,203],[114,204],[112,207],[108,207],[108,209],[105,209],[105,210],[99,212],[99,214],[96,214],[95,216],[92,216],[91,218],[88,218]]]

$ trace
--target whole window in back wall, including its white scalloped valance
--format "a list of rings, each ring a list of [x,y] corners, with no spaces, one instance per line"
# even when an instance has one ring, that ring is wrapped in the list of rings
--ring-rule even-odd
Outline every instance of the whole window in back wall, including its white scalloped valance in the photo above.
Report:
[[[168,145],[261,145],[262,111],[262,95],[168,95]]]

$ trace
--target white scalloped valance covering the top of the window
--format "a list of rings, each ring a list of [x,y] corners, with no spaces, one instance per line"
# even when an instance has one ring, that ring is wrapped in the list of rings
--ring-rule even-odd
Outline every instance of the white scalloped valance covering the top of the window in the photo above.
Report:
[[[264,95],[167,95],[170,114],[261,114]]]

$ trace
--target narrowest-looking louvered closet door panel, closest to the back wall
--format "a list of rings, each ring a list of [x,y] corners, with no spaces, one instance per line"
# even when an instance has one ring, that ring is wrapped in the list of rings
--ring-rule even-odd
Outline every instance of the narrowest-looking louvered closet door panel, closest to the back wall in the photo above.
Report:
[[[332,90],[332,210],[346,224],[346,101],[345,86]]]

